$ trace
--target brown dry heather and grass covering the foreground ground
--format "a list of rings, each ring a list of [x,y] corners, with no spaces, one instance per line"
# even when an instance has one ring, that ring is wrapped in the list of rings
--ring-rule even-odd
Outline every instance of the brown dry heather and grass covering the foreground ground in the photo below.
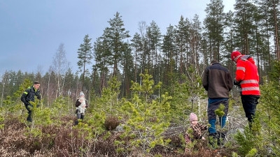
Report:
[[[106,120],[110,137],[87,138],[89,132],[83,132],[73,126],[75,117],[62,117],[59,124],[48,126],[28,127],[15,117],[6,117],[5,127],[0,130],[0,154],[3,157],[10,156],[127,156],[116,153],[115,140],[120,140],[120,134],[112,131],[119,124],[116,117]],[[173,131],[181,133],[181,128]],[[94,130],[94,128],[92,128]],[[183,154],[183,143],[179,133],[166,135],[172,141],[167,147],[156,146],[148,154],[141,154],[134,148],[129,156],[230,156],[231,151],[226,149],[214,150],[207,147],[207,141],[196,146],[191,154]]]

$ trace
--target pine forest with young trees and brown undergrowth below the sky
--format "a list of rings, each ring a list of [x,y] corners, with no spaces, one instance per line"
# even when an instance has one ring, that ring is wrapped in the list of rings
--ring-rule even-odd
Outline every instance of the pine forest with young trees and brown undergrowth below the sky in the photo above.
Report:
[[[181,15],[166,32],[155,21],[139,22],[133,35],[117,12],[102,36],[83,38],[78,71],[69,68],[64,44],[47,73],[6,70],[0,77],[1,156],[280,156],[279,10],[279,0],[236,0],[235,10],[225,13],[222,0],[211,0],[202,22]],[[208,124],[204,69],[216,59],[235,78],[233,50],[251,55],[258,67],[253,131],[234,87],[225,144],[186,146],[190,112]],[[34,81],[41,83],[42,100],[27,124],[20,96]],[[75,126],[80,91],[90,107]]]

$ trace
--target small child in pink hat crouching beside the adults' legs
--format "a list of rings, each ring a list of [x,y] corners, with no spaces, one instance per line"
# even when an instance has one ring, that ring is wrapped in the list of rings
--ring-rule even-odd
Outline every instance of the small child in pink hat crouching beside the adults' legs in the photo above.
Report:
[[[188,143],[193,142],[193,140],[197,140],[197,139],[202,139],[205,140],[205,138],[202,136],[202,130],[207,130],[207,125],[202,125],[199,124],[197,121],[197,115],[195,113],[190,113],[190,129],[191,131],[189,131],[189,129],[187,130],[186,134],[185,134],[185,140],[186,140],[186,149],[185,149],[185,154],[189,153],[189,149],[188,149]],[[192,133],[192,135],[190,135],[189,133]]]

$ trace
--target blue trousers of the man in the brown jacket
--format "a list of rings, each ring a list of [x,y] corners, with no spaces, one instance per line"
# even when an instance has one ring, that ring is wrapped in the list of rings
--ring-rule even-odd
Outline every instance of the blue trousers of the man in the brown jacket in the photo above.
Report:
[[[207,111],[207,116],[208,116],[208,123],[211,125],[208,128],[208,132],[210,133],[216,133],[216,117],[217,115],[215,114],[215,110],[220,107],[220,105],[223,104],[225,105],[225,115],[223,117],[219,117],[219,123],[221,125],[221,128],[225,127],[227,115],[228,115],[228,98],[208,98],[208,111]]]

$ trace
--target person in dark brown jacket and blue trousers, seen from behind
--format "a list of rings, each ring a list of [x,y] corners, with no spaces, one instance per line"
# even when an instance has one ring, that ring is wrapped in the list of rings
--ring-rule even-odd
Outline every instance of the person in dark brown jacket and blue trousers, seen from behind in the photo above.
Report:
[[[211,61],[211,66],[208,66],[204,70],[202,76],[202,85],[206,91],[208,91],[208,122],[211,125],[208,128],[209,137],[218,138],[216,132],[216,114],[215,110],[220,107],[221,104],[225,106],[223,117],[218,117],[221,128],[225,127],[227,115],[228,115],[228,98],[230,90],[233,87],[232,77],[228,68],[225,68],[218,63],[218,61]],[[222,137],[225,138],[224,133]],[[213,144],[213,143],[211,143]]]

